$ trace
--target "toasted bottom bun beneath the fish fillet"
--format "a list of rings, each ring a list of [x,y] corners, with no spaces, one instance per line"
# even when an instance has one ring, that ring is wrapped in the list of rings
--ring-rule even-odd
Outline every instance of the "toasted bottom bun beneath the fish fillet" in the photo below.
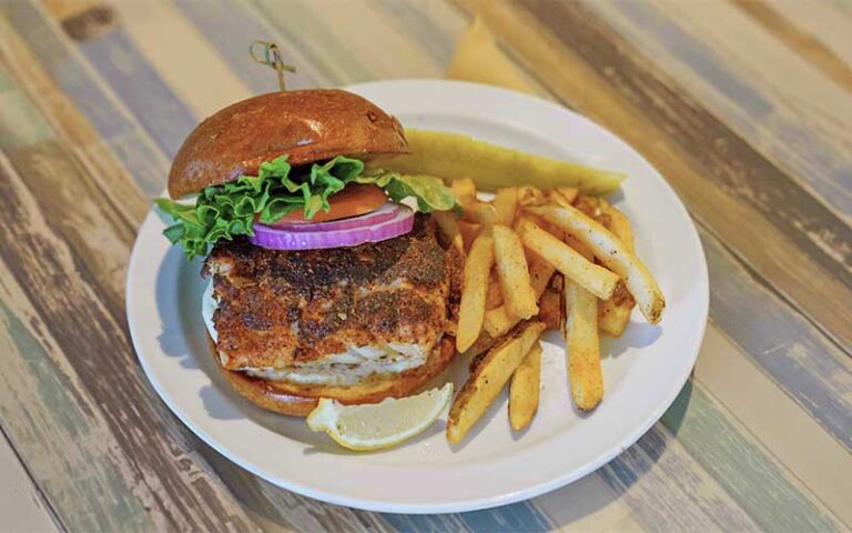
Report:
[[[386,398],[402,398],[413,394],[427,381],[447,368],[456,353],[456,342],[444,335],[426,363],[400,374],[375,375],[351,386],[311,385],[290,381],[271,381],[253,378],[240,371],[222,366],[213,339],[207,336],[211,354],[222,375],[236,392],[263,409],[291,416],[307,416],[321,398],[337,400],[345,404],[378,403]]]

